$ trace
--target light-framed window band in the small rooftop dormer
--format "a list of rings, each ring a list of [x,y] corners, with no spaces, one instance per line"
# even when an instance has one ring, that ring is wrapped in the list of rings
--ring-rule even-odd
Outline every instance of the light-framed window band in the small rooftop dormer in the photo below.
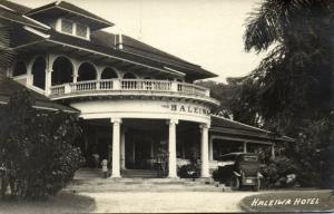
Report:
[[[62,33],[71,35],[75,37],[84,38],[89,40],[89,27],[78,23],[68,19],[60,18],[57,21],[56,29]]]

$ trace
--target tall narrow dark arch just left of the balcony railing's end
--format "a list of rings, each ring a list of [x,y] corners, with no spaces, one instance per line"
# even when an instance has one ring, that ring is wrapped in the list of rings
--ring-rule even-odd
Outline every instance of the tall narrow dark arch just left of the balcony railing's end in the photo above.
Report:
[[[47,68],[47,62],[45,58],[38,57],[32,65],[32,70],[31,74],[33,76],[33,81],[32,85],[45,89],[46,88],[46,68]]]

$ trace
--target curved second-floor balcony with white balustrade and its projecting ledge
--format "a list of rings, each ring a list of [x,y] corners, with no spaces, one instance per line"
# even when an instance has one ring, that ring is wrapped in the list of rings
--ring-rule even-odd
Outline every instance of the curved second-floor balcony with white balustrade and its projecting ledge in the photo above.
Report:
[[[151,79],[101,79],[68,82],[52,86],[51,99],[66,99],[88,96],[159,96],[197,99],[217,105],[209,97],[209,89],[195,84]]]

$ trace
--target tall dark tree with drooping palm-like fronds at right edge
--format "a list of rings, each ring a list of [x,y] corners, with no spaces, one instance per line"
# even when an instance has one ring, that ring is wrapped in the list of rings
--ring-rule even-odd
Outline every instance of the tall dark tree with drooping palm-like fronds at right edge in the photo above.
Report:
[[[304,185],[324,181],[328,162],[317,152],[333,144],[333,6],[265,0],[246,21],[246,51],[267,56],[243,80],[247,96],[239,101],[255,109],[250,118],[258,115],[266,128],[297,139],[285,154],[301,164]]]

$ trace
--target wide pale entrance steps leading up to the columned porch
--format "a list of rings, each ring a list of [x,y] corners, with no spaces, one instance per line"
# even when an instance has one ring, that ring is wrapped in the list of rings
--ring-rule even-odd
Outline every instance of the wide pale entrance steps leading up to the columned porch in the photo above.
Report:
[[[78,174],[78,173],[77,173]],[[82,171],[63,189],[66,192],[222,192],[223,186],[208,179],[120,177],[102,178],[101,172]],[[94,176],[95,175],[95,176]]]

